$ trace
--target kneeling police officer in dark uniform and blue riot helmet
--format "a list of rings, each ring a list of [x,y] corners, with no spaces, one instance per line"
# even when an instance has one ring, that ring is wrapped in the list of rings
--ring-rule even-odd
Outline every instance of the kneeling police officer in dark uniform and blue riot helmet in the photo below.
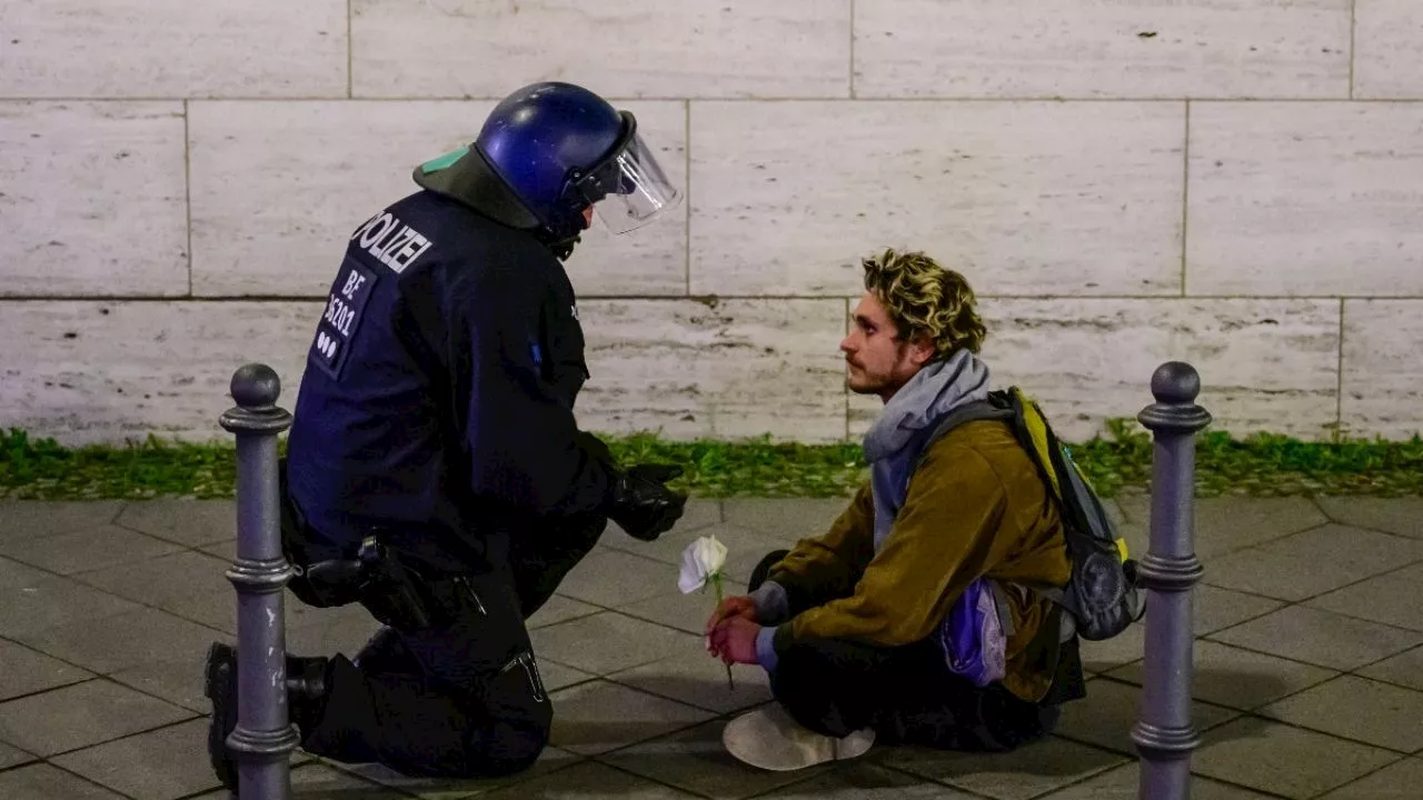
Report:
[[[581,431],[588,377],[564,272],[596,211],[632,231],[680,202],[635,117],[565,83],[505,98],[420,191],[351,233],[282,470],[283,547],[310,605],[384,628],[353,658],[287,658],[302,747],[416,776],[534,763],[552,707],[525,619],[609,520],[655,540],[675,467],[619,468]],[[236,764],[236,662],[208,655],[209,756]]]

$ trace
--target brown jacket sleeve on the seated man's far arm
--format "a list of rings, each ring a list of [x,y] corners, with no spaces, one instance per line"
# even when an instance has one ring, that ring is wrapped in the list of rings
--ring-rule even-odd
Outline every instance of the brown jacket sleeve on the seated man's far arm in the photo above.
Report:
[[[850,594],[874,555],[874,498],[865,483],[825,534],[795,542],[790,554],[771,567],[767,575],[767,584],[774,584],[771,592],[777,586],[784,591],[784,602],[773,601],[773,605],[797,614],[827,598]]]

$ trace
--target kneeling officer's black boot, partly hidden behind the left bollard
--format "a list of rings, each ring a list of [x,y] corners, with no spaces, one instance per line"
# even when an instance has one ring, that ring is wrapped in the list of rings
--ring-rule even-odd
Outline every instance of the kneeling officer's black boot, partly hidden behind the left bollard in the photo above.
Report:
[[[320,722],[326,709],[330,659],[286,656],[286,699],[290,720],[305,735]],[[208,723],[208,760],[213,774],[229,791],[238,791],[238,759],[228,750],[228,736],[238,727],[238,651],[213,642],[208,648],[203,695],[212,700]]]

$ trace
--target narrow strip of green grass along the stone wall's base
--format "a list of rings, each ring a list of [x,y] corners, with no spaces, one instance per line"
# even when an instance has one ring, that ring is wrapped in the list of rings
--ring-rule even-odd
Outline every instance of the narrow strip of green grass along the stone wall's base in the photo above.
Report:
[[[680,464],[686,474],[675,485],[696,497],[848,497],[867,474],[857,443],[787,444],[768,437],[670,441],[653,434],[603,438],[625,464]],[[1134,428],[1133,420],[1111,420],[1107,436],[1070,447],[1103,497],[1150,487],[1151,438]],[[231,443],[149,437],[118,447],[70,448],[21,430],[0,433],[0,498],[222,498],[232,497],[233,483]],[[1301,441],[1207,431],[1197,438],[1195,484],[1198,497],[1420,495],[1423,440]]]

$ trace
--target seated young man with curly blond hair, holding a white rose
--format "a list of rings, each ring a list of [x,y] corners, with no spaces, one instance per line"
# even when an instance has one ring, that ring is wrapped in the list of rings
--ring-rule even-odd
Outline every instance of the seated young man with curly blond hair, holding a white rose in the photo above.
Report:
[[[727,725],[740,760],[788,770],[875,742],[1010,750],[1084,696],[1076,639],[1023,585],[1064,586],[1056,504],[1005,421],[963,423],[921,450],[945,414],[989,391],[985,327],[963,276],[922,253],[864,260],[865,295],[840,349],[850,389],[878,394],[869,481],[821,537],[770,554],[750,595],[707,622],[709,649],[756,663],[778,700]],[[918,467],[916,467],[918,463]],[[978,578],[1003,591],[1002,678],[949,669],[945,615]]]

